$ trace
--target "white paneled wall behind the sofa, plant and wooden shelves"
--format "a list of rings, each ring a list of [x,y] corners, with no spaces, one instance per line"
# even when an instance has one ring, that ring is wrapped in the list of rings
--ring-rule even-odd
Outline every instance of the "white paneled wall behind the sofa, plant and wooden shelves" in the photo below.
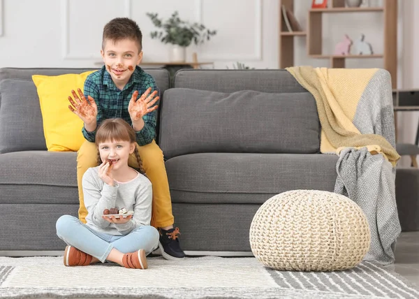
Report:
[[[382,0],[369,0],[380,4]],[[295,15],[307,27],[311,0],[295,0]],[[215,68],[240,61],[254,68],[278,68],[277,0],[0,0],[0,67],[97,67],[103,25],[112,17],[131,17],[142,29],[144,60],[167,61],[169,45],[149,37],[154,26],[145,15],[203,22],[218,30],[212,41],[191,46],[198,59]],[[419,89],[419,1],[399,1],[399,88]],[[383,52],[382,13],[336,14],[323,22],[323,51],[332,52],[343,34],[365,34],[374,52]],[[339,23],[339,26],[336,24]],[[295,39],[295,63],[329,66],[309,59],[305,38]],[[95,64],[96,63],[96,64]],[[348,67],[382,67],[382,59],[351,59]],[[399,112],[399,141],[413,142],[419,112]]]

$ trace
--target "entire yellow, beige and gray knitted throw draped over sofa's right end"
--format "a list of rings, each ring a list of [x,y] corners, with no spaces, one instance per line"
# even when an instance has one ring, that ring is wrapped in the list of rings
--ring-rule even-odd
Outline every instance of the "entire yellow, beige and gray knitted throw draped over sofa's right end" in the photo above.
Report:
[[[395,124],[391,80],[383,69],[287,68],[316,99],[321,152],[336,153],[335,193],[357,203],[369,222],[364,261],[389,264],[401,231],[395,200]]]

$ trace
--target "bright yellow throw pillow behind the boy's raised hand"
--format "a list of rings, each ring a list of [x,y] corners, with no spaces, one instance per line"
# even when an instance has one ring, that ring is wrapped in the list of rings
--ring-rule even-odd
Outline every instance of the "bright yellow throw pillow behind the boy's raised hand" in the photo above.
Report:
[[[83,122],[68,109],[68,96],[72,96],[72,89],[77,92],[80,88],[83,91],[87,75],[93,72],[56,76],[32,75],[41,104],[44,136],[49,151],[77,152],[84,143]]]

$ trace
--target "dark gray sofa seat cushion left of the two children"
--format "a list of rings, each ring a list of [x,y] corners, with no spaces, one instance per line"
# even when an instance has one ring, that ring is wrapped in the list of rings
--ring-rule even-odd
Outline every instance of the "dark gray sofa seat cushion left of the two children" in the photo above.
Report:
[[[78,204],[75,152],[10,152],[0,165],[0,203]]]

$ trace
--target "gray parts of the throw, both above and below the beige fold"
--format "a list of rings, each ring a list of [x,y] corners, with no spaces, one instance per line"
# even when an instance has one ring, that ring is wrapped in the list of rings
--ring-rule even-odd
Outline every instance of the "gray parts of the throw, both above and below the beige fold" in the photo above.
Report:
[[[395,147],[392,90],[387,71],[378,71],[365,88],[353,124],[362,134],[378,134]],[[395,261],[395,242],[402,231],[395,200],[395,168],[382,154],[366,147],[345,148],[337,161],[335,193],[351,198],[365,212],[371,247],[365,261],[383,265]]]

